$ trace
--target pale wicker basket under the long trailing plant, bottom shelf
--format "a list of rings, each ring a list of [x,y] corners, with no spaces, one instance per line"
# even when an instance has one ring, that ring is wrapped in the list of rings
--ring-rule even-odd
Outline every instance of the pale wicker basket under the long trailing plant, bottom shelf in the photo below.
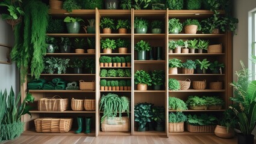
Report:
[[[127,116],[105,119],[101,124],[102,131],[129,131],[130,121]]]

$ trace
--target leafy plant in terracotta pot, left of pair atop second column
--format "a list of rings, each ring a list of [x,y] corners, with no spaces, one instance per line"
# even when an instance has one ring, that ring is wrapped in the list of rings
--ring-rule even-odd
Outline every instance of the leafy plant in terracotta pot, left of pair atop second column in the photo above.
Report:
[[[111,29],[114,29],[114,19],[103,17],[99,26],[103,29],[103,34],[111,34]]]

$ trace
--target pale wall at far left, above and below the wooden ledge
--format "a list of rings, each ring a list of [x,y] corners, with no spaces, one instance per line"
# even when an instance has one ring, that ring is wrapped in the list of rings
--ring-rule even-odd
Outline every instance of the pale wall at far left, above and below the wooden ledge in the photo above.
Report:
[[[1,17],[1,16],[0,16]],[[11,25],[8,25],[4,20],[0,18],[0,43],[7,46],[13,46],[14,36]],[[11,86],[15,94],[19,92],[19,77],[17,74],[17,68],[14,62],[9,64],[0,64],[0,89],[10,91]]]

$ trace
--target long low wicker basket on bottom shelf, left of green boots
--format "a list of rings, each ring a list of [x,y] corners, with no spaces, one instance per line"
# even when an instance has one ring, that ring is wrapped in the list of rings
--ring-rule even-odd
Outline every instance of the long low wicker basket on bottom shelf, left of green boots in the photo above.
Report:
[[[34,120],[37,133],[67,133],[73,118],[37,118]]]

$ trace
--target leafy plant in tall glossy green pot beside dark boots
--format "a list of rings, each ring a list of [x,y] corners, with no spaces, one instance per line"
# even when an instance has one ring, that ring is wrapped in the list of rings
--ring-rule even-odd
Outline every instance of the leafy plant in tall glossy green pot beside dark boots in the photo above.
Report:
[[[134,49],[137,50],[138,60],[146,60],[146,51],[149,51],[151,46],[148,42],[140,40],[138,43],[136,43]]]

